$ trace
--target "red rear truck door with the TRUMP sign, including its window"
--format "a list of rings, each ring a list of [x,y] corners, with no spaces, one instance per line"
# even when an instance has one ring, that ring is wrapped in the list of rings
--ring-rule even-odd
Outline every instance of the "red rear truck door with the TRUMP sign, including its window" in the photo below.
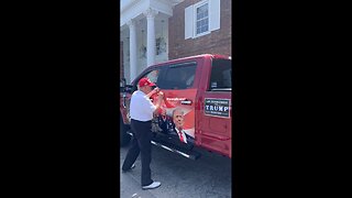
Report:
[[[205,91],[198,98],[197,141],[231,157],[231,59],[208,59],[205,67],[200,80]]]

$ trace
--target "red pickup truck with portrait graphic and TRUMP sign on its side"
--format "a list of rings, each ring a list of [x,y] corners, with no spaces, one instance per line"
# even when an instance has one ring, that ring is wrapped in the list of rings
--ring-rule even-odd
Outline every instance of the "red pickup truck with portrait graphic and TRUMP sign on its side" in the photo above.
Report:
[[[194,147],[231,158],[231,57],[202,54],[156,64],[132,85],[120,85],[120,143],[130,142],[129,105],[138,81],[148,77],[164,92],[152,121],[152,143],[196,160]],[[153,100],[153,97],[151,98]],[[182,135],[179,131],[183,131]]]

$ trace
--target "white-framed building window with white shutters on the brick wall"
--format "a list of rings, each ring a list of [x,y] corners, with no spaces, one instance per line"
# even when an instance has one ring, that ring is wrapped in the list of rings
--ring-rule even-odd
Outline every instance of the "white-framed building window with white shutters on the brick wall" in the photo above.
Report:
[[[185,9],[185,40],[220,29],[220,0],[202,0]]]

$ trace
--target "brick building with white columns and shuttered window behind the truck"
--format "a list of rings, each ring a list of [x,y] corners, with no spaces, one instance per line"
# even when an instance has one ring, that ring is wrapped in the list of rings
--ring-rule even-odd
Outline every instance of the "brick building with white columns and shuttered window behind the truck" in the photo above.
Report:
[[[120,2],[120,76],[128,82],[168,59],[205,53],[231,56],[231,0]]]

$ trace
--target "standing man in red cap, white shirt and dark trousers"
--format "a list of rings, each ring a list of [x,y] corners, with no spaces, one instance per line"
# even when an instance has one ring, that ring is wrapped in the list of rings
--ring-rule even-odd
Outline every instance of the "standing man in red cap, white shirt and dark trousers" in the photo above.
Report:
[[[132,145],[125,156],[122,165],[122,172],[134,168],[134,162],[141,153],[142,189],[153,189],[161,186],[160,182],[153,182],[151,178],[151,161],[152,161],[152,119],[153,113],[161,106],[164,94],[148,78],[142,78],[139,81],[139,90],[132,94],[130,103],[131,129],[133,133]],[[150,98],[157,94],[156,105]]]

